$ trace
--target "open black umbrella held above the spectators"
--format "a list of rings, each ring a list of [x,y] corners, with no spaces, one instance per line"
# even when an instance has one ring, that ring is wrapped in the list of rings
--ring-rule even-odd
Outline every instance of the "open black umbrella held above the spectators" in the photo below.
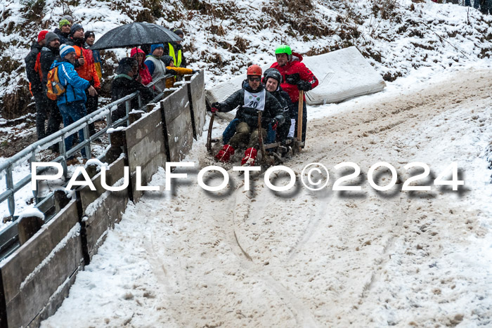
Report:
[[[150,22],[132,22],[111,29],[91,46],[92,50],[125,48],[143,44],[162,44],[164,42],[181,41],[174,32],[166,27]]]

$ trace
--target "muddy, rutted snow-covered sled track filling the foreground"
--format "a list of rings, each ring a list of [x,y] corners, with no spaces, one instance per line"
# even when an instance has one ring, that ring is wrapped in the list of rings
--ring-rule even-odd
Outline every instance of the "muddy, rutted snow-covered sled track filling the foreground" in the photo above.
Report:
[[[337,113],[309,121],[308,147],[287,166],[325,164],[323,192],[276,195],[262,176],[245,192],[231,173],[221,195],[186,182],[174,195],[145,195],[44,327],[491,325],[492,71],[415,87],[309,107]],[[202,137],[188,159],[204,156]],[[361,167],[350,182],[362,190],[334,192],[342,173],[333,166],[348,161]],[[380,161],[396,168],[398,188],[370,188],[368,169]],[[453,161],[464,188],[432,185]],[[430,192],[400,191],[410,162],[430,166],[421,183]],[[152,184],[164,181],[160,170]]]

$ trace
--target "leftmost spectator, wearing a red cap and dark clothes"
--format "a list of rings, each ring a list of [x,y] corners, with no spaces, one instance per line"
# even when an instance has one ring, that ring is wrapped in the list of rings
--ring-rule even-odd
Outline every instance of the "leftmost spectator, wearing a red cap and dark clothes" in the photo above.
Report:
[[[41,48],[45,44],[44,37],[46,37],[47,33],[48,31],[39,32],[37,41],[32,43],[31,51],[25,58],[25,72],[29,80],[31,94],[34,96],[34,103],[36,103],[36,132],[38,140],[46,136],[44,122],[48,118],[46,105],[44,104],[43,84],[41,83],[43,75],[41,74],[41,64],[39,63]]]

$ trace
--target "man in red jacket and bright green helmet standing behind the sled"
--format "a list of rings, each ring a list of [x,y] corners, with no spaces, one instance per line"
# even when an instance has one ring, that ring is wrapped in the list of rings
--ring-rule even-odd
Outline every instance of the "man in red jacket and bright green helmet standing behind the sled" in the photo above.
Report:
[[[280,86],[283,91],[287,92],[290,96],[292,103],[299,108],[299,91],[309,91],[312,88],[318,86],[318,79],[314,76],[313,72],[309,70],[302,62],[302,55],[299,53],[293,53],[290,46],[281,45],[275,50],[277,63],[273,63],[271,67],[276,68],[283,77],[283,83]],[[297,114],[294,136],[297,136]],[[302,141],[306,140],[306,124],[307,124],[307,111],[306,111],[306,96],[304,96],[303,110],[302,110]]]

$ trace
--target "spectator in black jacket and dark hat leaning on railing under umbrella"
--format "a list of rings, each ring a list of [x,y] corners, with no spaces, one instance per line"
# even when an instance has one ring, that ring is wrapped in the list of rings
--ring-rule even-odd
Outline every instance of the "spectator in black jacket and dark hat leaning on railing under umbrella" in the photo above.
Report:
[[[135,91],[140,92],[142,105],[148,103],[153,99],[154,93],[150,88],[147,88],[140,82],[136,81],[135,77],[138,72],[138,63],[135,58],[126,57],[119,60],[116,74],[118,74],[111,84],[111,100],[116,101],[124,98]],[[131,100],[131,110],[138,109],[138,98],[135,97]],[[125,104],[118,105],[117,110],[112,112],[112,122],[121,119],[127,114]]]

